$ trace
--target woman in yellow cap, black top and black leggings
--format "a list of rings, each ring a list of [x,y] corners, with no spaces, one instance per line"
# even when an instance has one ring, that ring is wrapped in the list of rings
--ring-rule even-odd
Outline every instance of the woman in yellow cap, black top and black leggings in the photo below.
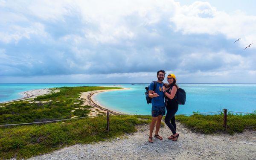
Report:
[[[172,131],[172,136],[168,137],[168,139],[177,141],[179,134],[176,133],[175,113],[178,111],[179,105],[176,101],[177,97],[175,95],[179,87],[176,84],[176,76],[174,74],[169,74],[167,76],[167,81],[169,84],[166,85],[166,88],[163,87],[167,111],[164,121]]]

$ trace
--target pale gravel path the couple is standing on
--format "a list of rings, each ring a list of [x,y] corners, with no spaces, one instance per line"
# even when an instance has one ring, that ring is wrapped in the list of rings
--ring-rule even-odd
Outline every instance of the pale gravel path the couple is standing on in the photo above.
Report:
[[[137,126],[138,131],[121,139],[86,145],[73,145],[61,150],[32,157],[30,160],[256,160],[256,131],[241,134],[198,134],[177,123],[180,134],[177,142],[168,140],[167,126],[160,128],[163,140],[153,138],[148,143],[148,125]]]

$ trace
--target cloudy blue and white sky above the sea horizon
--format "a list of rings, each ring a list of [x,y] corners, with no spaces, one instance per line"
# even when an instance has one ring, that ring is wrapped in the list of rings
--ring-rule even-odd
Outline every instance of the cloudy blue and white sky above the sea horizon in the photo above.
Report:
[[[253,6],[0,0],[0,83],[148,83],[157,70],[178,83],[256,83]]]

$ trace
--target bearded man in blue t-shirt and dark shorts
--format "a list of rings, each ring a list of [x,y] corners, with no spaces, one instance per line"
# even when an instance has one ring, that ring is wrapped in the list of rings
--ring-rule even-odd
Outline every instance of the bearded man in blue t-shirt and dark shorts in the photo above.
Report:
[[[152,82],[149,85],[148,89],[148,96],[152,98],[152,121],[150,123],[150,129],[149,129],[149,138],[148,142],[153,143],[153,131],[154,131],[154,126],[156,124],[156,131],[154,134],[154,137],[158,138],[159,140],[163,140],[163,137],[161,137],[158,134],[158,131],[160,129],[161,125],[161,120],[163,115],[165,115],[165,103],[164,103],[164,93],[163,93],[163,80],[165,76],[165,71],[164,70],[159,70],[157,71],[157,83],[156,83],[156,88],[154,90],[154,82]]]

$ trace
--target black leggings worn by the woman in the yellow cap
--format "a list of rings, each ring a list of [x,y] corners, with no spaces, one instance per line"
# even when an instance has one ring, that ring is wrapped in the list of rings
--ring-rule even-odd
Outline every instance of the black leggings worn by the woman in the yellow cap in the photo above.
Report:
[[[172,105],[171,108],[169,106],[167,106],[166,110],[167,110],[167,113],[166,113],[164,122],[170,128],[170,130],[172,131],[172,134],[176,134],[176,123],[175,123],[174,115],[178,111],[178,105]],[[171,123],[170,123],[170,121],[171,121]]]

